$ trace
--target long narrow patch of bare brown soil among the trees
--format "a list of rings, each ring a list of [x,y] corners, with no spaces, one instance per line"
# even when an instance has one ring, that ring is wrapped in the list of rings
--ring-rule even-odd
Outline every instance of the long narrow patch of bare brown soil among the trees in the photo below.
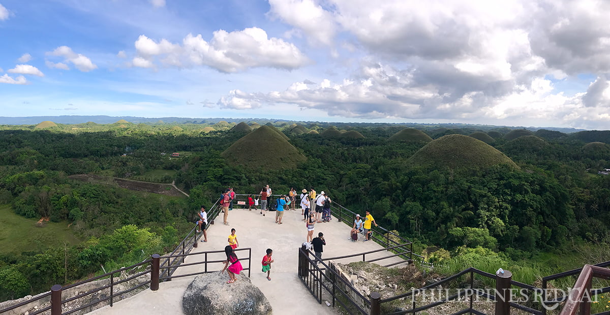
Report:
[[[68,176],[71,179],[85,182],[95,182],[98,184],[114,184],[121,188],[129,190],[137,190],[140,192],[158,193],[160,195],[181,197],[181,192],[176,190],[170,184],[159,184],[156,182],[141,182],[131,179],[114,178],[109,176],[93,175],[93,174],[77,174]]]

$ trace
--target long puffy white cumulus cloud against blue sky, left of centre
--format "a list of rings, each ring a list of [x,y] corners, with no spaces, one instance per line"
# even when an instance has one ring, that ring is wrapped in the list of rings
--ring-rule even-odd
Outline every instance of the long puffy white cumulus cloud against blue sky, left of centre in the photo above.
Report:
[[[217,30],[210,41],[201,34],[188,34],[182,45],[140,35],[135,49],[140,58],[138,63],[147,67],[159,60],[164,66],[209,66],[221,72],[238,72],[254,67],[290,70],[309,62],[294,44],[268,38],[267,32],[257,27],[234,32]]]

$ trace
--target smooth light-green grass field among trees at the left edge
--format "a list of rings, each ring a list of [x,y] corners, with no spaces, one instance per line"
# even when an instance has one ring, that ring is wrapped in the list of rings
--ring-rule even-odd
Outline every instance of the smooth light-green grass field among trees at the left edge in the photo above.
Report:
[[[44,251],[51,246],[80,242],[67,222],[46,222],[39,227],[36,219],[16,215],[9,205],[0,206],[0,253]]]

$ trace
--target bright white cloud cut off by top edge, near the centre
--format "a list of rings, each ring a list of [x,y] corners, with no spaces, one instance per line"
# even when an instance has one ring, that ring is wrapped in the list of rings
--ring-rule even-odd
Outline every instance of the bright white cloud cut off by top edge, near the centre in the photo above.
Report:
[[[271,16],[297,27],[314,43],[332,44],[336,23],[332,13],[314,0],[269,0]]]

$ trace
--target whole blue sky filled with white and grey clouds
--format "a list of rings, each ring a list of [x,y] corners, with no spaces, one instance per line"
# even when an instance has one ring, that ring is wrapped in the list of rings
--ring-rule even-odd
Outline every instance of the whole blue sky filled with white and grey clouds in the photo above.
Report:
[[[608,129],[608,1],[0,0],[0,116]]]

